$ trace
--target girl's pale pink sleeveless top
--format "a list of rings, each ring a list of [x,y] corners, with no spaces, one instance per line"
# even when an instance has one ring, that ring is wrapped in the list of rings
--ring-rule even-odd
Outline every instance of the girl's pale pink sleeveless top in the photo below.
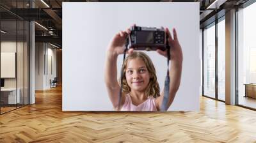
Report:
[[[156,98],[150,96],[145,102],[136,106],[132,104],[131,96],[129,94],[126,94],[125,102],[121,111],[157,111]]]

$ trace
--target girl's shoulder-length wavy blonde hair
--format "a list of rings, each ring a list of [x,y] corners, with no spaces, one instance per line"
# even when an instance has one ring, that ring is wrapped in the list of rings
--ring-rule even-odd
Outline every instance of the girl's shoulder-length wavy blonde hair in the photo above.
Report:
[[[154,98],[160,96],[159,84],[157,82],[156,70],[155,70],[154,64],[152,63],[150,57],[147,56],[147,54],[145,54],[144,52],[136,52],[136,51],[132,52],[132,54],[129,54],[127,57],[125,57],[125,61],[122,66],[122,69],[124,69],[123,70],[123,80],[122,80],[122,84],[123,84],[122,92],[125,94],[128,94],[131,92],[131,87],[128,86],[128,83],[127,83],[127,80],[125,77],[125,73],[126,73],[128,61],[130,59],[136,59],[137,57],[139,57],[140,59],[142,59],[144,61],[144,63],[146,64],[148,73],[150,75],[150,80],[149,80],[148,86],[145,90],[145,94],[147,94],[147,96],[153,96]]]

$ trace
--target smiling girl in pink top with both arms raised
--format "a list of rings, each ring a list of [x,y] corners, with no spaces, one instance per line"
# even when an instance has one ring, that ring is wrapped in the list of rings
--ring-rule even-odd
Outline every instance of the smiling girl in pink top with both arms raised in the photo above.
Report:
[[[169,36],[168,41],[171,47],[169,108],[179,89],[183,57],[175,29],[173,29],[173,38],[167,28],[165,31]],[[130,33],[131,31],[127,29],[126,31],[120,31],[115,34],[106,52],[105,82],[109,98],[116,110],[118,109],[120,91],[120,85],[117,80],[116,61],[118,55],[124,53],[125,41]],[[164,57],[167,57],[166,51],[157,50]],[[119,109],[124,111],[160,110],[164,93],[159,93],[156,70],[150,57],[143,52],[133,51],[133,49],[129,49],[127,53],[129,55],[125,57],[123,65],[124,77],[122,80],[122,98]]]

